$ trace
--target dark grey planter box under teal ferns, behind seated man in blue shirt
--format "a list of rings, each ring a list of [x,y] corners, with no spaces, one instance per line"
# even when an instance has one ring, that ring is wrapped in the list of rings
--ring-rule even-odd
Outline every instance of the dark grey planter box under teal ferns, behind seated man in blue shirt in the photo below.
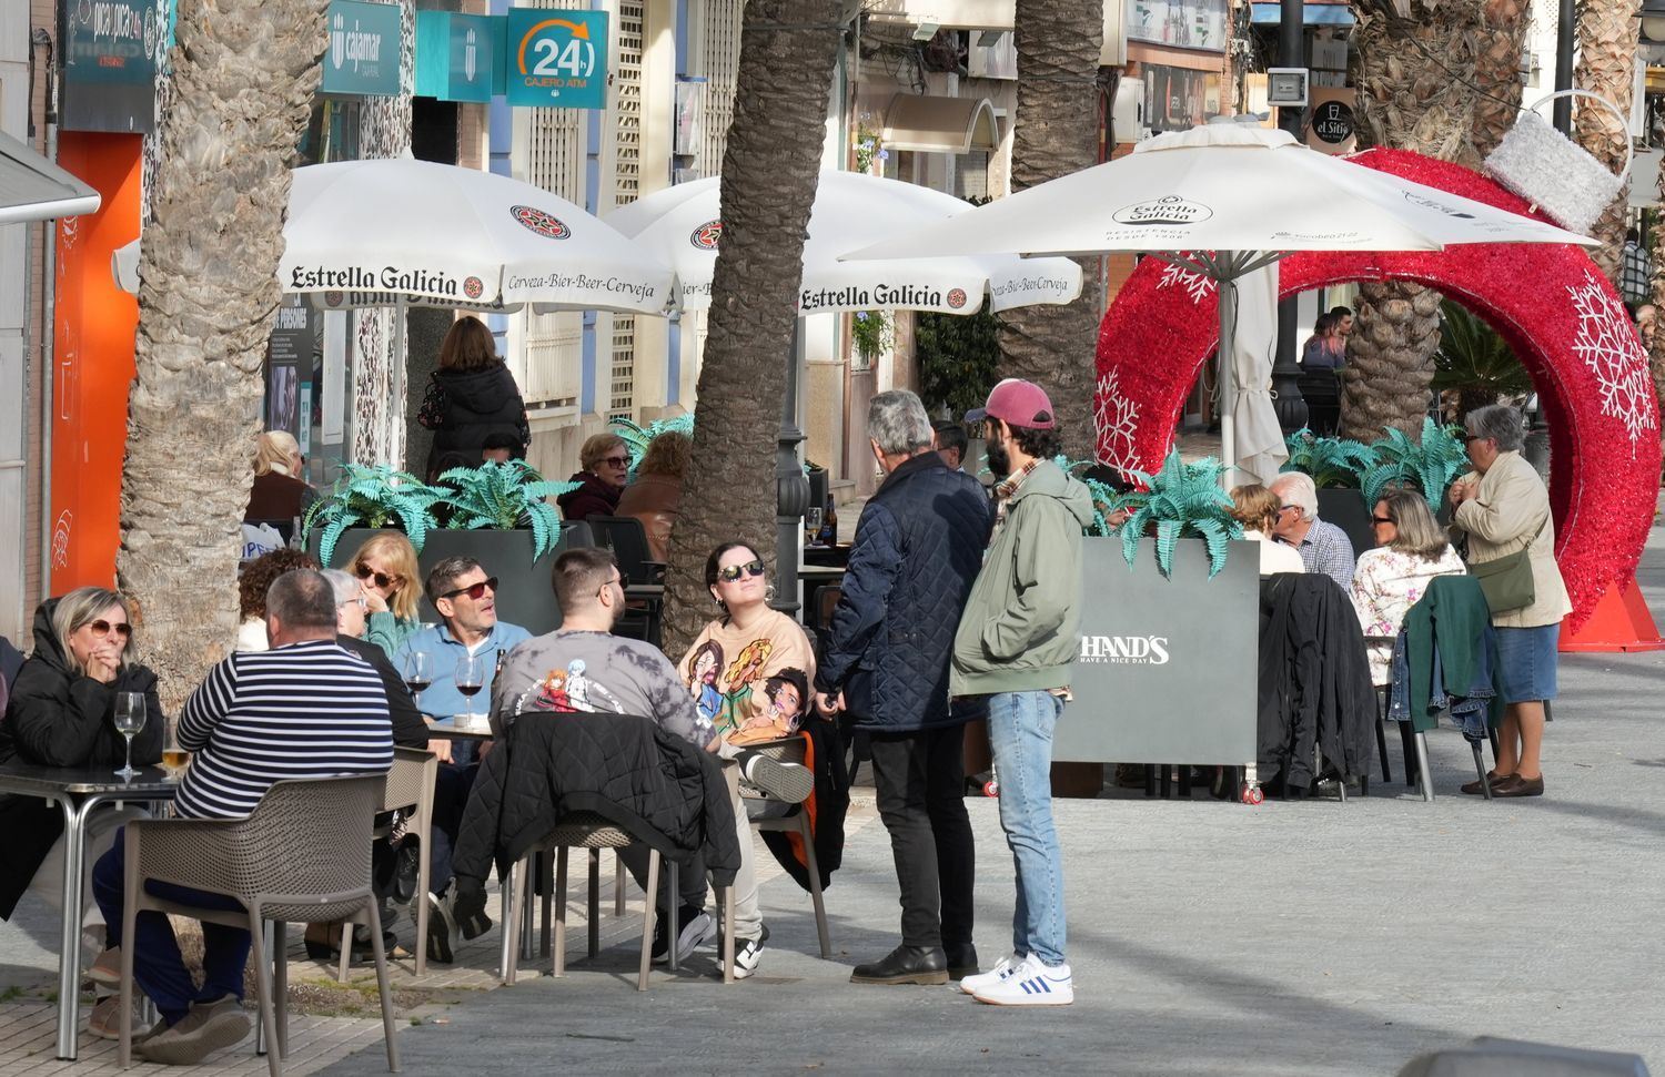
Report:
[[[371,528],[350,528],[335,544],[335,556],[328,568],[345,569],[358,548],[371,536],[381,534]],[[396,533],[401,534],[401,533]],[[549,568],[556,554],[566,546],[556,546],[551,553],[531,559],[531,531],[446,531],[435,529],[416,554],[421,576],[428,574],[435,564],[446,558],[466,556],[480,561],[488,576],[498,578],[498,619],[524,628],[533,636],[553,633],[561,623],[561,606],[554,601],[554,588],[549,586]],[[306,538],[306,549],[318,556],[318,534]],[[421,579],[416,581],[418,591]],[[421,603],[421,619],[438,621],[440,614],[425,598]]]

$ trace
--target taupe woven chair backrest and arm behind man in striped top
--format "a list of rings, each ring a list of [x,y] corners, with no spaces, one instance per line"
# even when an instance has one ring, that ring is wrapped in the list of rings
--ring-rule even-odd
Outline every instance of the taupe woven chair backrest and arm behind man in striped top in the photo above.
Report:
[[[361,891],[370,886],[371,827],[385,784],[386,774],[273,782],[246,819],[226,827],[225,841],[163,826],[145,834],[145,846],[190,842],[193,856],[218,861],[221,892],[245,906],[266,894]]]

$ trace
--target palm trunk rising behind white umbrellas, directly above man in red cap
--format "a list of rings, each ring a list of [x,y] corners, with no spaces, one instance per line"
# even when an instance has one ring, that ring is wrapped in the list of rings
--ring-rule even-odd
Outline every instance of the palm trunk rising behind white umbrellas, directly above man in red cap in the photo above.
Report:
[[[1017,123],[1012,191],[1097,163],[1099,52],[1104,18],[1081,0],[1017,0]],[[1064,451],[1094,456],[1092,378],[1099,310],[1096,258],[1081,260],[1084,288],[1067,306],[1026,306],[1001,315],[1001,373],[1047,391]]]

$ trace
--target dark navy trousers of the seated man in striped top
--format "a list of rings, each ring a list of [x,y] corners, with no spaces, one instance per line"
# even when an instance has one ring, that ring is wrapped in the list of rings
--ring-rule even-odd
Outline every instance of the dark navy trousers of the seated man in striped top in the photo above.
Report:
[[[117,831],[115,849],[98,857],[93,867],[93,897],[105,914],[105,932],[112,947],[122,945],[123,859],[127,856],[127,827]],[[208,894],[171,882],[147,882],[145,892],[166,901],[198,906],[201,909],[233,909],[243,906],[225,894]],[[203,924],[203,985],[196,987],[180,957],[180,942],[173,926],[160,912],[140,911],[133,922],[133,982],[150,995],[162,1017],[173,1025],[191,1009],[191,1002],[211,1002],[223,995],[243,997],[243,965],[248,964],[248,932],[241,927]]]

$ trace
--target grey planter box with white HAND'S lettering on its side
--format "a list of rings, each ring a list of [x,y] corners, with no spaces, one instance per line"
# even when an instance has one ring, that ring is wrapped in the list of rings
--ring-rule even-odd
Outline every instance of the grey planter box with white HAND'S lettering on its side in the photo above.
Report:
[[[1180,539],[1174,576],[1141,539],[1129,569],[1114,538],[1086,539],[1086,601],[1052,757],[1074,762],[1255,761],[1260,553],[1230,544],[1209,579],[1207,548]]]

